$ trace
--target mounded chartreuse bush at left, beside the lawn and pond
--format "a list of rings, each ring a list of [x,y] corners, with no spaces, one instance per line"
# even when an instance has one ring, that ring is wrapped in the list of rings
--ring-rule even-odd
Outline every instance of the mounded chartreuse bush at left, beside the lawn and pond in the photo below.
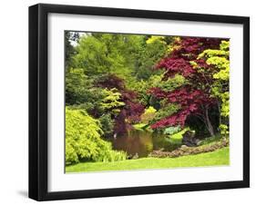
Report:
[[[101,139],[99,121],[82,110],[66,108],[66,164],[79,161],[126,160],[124,151],[113,151],[110,142]]]

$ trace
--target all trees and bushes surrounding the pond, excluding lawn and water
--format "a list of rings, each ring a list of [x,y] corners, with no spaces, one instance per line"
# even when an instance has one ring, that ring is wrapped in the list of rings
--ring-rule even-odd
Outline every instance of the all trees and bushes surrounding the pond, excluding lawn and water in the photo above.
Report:
[[[228,136],[228,39],[67,32],[65,40],[67,164],[126,159],[107,140],[138,124]]]

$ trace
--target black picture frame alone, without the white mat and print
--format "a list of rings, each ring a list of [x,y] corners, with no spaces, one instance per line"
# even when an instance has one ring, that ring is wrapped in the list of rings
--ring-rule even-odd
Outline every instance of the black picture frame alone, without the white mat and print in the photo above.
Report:
[[[47,190],[47,15],[102,15],[243,25],[243,180],[100,190]],[[29,7],[29,198],[67,200],[250,187],[250,18],[76,5]]]

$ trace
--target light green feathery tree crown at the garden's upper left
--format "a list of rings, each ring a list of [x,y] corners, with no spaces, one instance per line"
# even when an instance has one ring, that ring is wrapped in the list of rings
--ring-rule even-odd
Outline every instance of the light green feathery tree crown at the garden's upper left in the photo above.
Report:
[[[142,49],[143,35],[90,34],[83,35],[73,56],[74,67],[83,68],[88,76],[115,73],[126,81],[135,82],[133,73]]]

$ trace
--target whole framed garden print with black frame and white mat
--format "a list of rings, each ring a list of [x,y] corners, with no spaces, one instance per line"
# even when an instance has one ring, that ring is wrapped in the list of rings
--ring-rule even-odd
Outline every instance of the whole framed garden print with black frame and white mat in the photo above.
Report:
[[[250,19],[29,7],[29,197],[250,186]]]

